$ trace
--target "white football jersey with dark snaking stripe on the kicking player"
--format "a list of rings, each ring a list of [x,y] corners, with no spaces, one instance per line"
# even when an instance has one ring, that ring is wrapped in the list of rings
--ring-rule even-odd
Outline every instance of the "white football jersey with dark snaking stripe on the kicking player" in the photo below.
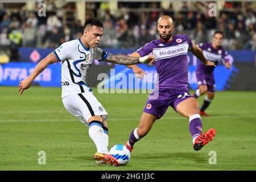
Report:
[[[108,52],[100,48],[86,48],[80,39],[61,44],[53,51],[61,65],[61,97],[90,92],[86,75],[93,60],[104,60]]]

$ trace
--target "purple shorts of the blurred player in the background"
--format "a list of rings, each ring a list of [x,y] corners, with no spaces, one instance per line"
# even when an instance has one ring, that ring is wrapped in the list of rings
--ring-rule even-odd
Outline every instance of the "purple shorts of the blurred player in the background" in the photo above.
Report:
[[[204,72],[196,71],[197,85],[207,85],[209,92],[215,91],[215,80],[213,73],[206,74]]]

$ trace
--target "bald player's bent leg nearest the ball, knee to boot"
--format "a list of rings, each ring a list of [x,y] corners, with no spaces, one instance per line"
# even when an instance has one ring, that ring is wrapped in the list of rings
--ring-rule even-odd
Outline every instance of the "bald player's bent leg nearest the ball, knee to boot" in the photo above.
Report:
[[[155,115],[142,113],[141,122],[139,122],[139,126],[131,131],[129,140],[126,142],[126,148],[131,152],[133,151],[133,146],[136,142],[138,142],[141,138],[147,135],[150,131],[154,122],[156,120]]]

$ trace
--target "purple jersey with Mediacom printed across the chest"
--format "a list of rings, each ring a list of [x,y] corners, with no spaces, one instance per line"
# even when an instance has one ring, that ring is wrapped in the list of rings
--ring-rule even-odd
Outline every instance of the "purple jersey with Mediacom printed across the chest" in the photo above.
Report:
[[[192,48],[187,35],[173,35],[170,42],[161,39],[145,44],[137,52],[141,56],[155,55],[159,88],[188,90],[188,48]],[[156,85],[155,85],[156,86]]]

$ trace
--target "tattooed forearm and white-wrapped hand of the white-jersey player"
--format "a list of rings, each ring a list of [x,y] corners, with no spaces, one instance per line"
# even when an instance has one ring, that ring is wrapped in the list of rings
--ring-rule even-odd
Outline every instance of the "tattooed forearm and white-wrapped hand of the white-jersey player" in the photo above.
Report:
[[[115,64],[133,65],[140,63],[152,64],[155,60],[154,55],[147,55],[144,57],[131,57],[127,55],[112,55],[109,54],[104,61]]]

